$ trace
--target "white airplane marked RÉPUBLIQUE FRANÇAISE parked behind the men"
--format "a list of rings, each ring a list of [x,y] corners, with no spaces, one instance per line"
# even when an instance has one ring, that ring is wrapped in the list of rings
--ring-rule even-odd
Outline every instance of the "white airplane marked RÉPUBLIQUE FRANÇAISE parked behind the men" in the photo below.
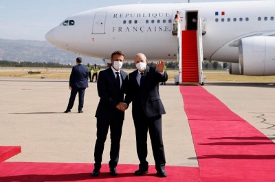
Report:
[[[66,51],[109,58],[115,50],[133,61],[178,59],[174,17],[181,30],[202,27],[203,60],[228,62],[233,75],[275,75],[275,1],[114,5],[74,14],[45,35]]]

